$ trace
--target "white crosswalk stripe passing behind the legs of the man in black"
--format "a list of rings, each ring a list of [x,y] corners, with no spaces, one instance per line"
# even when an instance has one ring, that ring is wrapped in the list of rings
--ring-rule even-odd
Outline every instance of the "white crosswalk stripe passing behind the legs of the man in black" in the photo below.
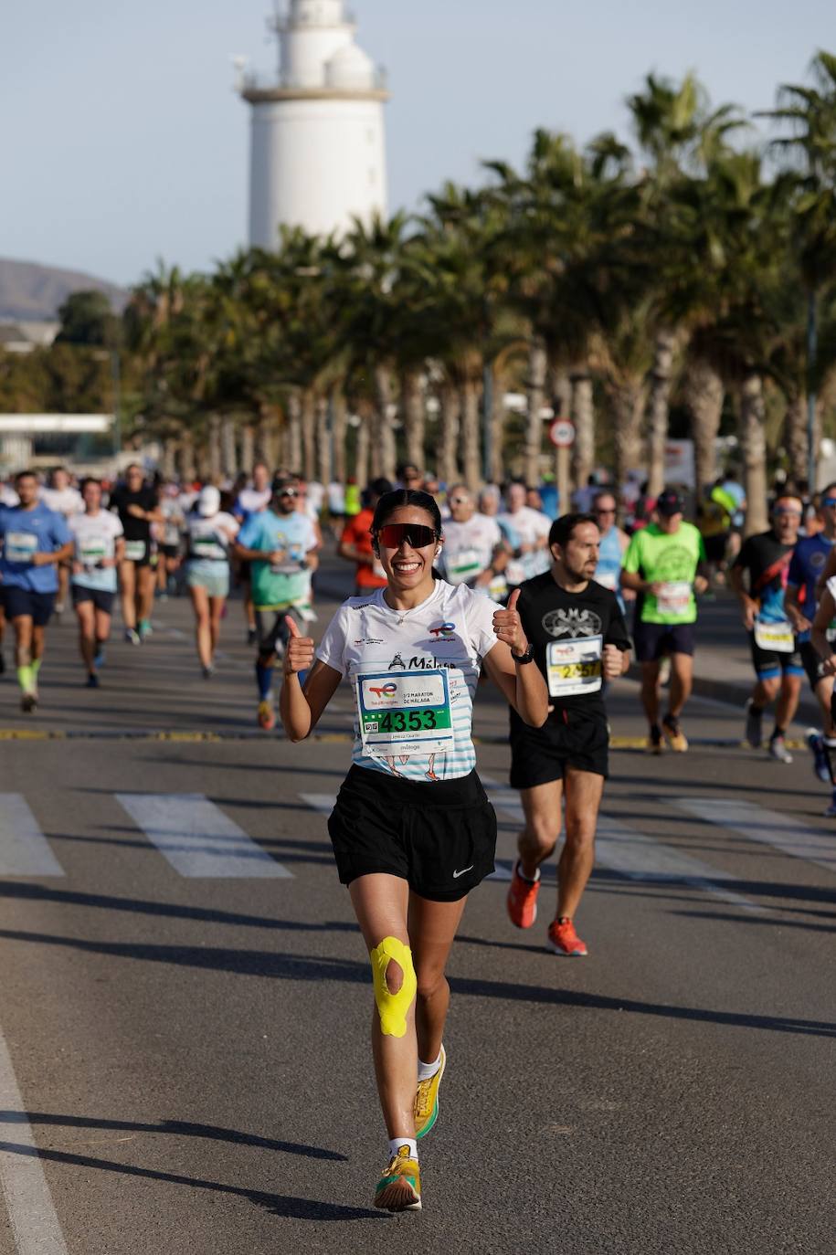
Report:
[[[497,784],[487,777],[482,783],[488,789],[488,797],[497,811],[502,811],[520,825],[525,823],[525,813],[516,789]],[[763,907],[751,899],[724,889],[723,881],[732,878],[724,872],[606,814],[599,816],[598,821],[595,862],[630,880],[675,881],[690,889],[703,890],[741,910],[757,914],[763,911]]]

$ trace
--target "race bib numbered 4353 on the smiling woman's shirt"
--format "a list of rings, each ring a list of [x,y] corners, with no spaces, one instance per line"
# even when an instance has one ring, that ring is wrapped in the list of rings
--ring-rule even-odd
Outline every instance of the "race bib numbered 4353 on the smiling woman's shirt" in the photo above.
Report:
[[[439,754],[453,748],[446,670],[360,674],[356,703],[367,754]]]

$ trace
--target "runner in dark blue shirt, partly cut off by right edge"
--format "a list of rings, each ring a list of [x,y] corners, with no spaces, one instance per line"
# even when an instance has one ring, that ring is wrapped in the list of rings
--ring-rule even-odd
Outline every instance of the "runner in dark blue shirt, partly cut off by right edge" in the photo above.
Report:
[[[836,728],[830,709],[833,693],[833,676],[825,673],[825,664],[816,653],[810,638],[810,628],[818,606],[817,584],[825,574],[827,560],[836,545],[836,483],[828,483],[821,493],[820,513],[822,531],[815,536],[803,536],[796,545],[787,575],[787,587],[783,605],[787,619],[798,633],[798,651],[805,665],[810,688],[818,698],[821,707],[822,732],[807,729],[807,744],[813,756],[813,772],[823,783],[833,783],[831,777],[828,750],[836,750]],[[836,624],[827,629],[827,639],[836,640]]]

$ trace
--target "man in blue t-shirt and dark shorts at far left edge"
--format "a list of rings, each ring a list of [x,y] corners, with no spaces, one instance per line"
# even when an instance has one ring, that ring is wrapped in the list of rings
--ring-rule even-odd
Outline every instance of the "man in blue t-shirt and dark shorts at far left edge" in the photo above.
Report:
[[[16,476],[15,489],[20,505],[0,512],[0,591],[15,633],[20,709],[31,713],[38,708],[38,673],[58,592],[58,565],[72,557],[73,537],[64,516],[38,501],[31,471]]]

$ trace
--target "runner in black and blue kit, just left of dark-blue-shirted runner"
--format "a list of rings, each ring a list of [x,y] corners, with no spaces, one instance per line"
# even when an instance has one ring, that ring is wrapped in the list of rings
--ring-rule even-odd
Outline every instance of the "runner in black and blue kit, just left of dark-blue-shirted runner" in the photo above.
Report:
[[[772,506],[772,527],[743,541],[729,572],[757,676],[746,705],[746,739],[753,748],[761,747],[763,712],[774,702],[769,754],[780,763],[792,762],[786,732],[798,709],[805,674],[795,626],[783,601],[802,513],[800,497],[790,493],[777,497]]]

